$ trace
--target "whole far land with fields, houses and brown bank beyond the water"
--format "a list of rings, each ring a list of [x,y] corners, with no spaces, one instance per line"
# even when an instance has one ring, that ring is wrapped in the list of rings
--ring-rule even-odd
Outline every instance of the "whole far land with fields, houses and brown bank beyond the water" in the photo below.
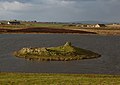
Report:
[[[9,21],[8,21],[9,22]],[[98,35],[120,35],[119,24],[80,24],[80,23],[52,23],[52,22],[24,22],[13,21],[14,24],[0,23],[0,34],[40,34],[40,33],[77,33]],[[19,22],[19,24],[18,24]],[[100,24],[99,24],[100,25]],[[102,25],[102,24],[101,24]]]

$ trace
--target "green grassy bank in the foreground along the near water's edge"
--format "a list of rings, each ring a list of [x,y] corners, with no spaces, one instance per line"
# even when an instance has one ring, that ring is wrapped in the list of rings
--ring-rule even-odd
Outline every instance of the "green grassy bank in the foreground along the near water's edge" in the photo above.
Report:
[[[0,85],[120,85],[120,75],[0,73]]]

